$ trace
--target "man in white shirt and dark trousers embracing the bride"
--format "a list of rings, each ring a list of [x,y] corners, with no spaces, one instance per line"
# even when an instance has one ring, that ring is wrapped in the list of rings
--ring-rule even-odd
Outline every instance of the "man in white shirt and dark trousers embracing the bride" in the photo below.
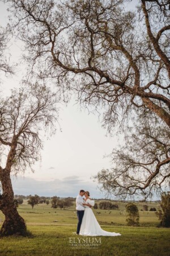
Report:
[[[76,197],[76,214],[78,217],[78,224],[76,229],[76,234],[79,234],[80,232],[80,226],[82,225],[83,215],[84,215],[84,205],[87,205],[88,207],[91,207],[90,204],[85,204],[83,200],[85,191],[83,189],[80,190],[79,195]]]

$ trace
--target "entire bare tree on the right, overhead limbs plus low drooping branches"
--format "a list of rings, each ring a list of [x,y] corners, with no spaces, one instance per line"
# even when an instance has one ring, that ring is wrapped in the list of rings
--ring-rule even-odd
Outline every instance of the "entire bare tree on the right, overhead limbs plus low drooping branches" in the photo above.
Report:
[[[169,179],[169,1],[139,0],[135,11],[126,11],[123,0],[6,2],[32,73],[57,81],[64,92],[73,88],[87,106],[103,108],[109,131],[135,115],[155,122],[137,129],[129,151],[113,151],[116,169],[97,176],[103,188],[147,196],[161,187]]]

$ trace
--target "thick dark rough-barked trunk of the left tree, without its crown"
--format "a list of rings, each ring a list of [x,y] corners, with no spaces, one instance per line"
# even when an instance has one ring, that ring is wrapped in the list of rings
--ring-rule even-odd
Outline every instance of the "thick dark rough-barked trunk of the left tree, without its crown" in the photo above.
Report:
[[[3,194],[0,197],[0,209],[5,215],[5,221],[2,224],[1,236],[10,236],[12,234],[24,235],[27,227],[24,219],[19,215],[16,204],[14,203],[14,192],[12,189],[10,172],[6,169],[1,170],[0,176]]]

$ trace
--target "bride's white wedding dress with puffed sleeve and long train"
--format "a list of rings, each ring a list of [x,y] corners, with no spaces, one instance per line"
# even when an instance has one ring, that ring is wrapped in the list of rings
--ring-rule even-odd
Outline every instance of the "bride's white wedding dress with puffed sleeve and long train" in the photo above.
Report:
[[[95,201],[87,199],[86,203],[94,206]],[[100,228],[99,222],[96,220],[95,214],[90,207],[85,208],[82,225],[80,227],[80,235],[82,236],[110,236],[116,237],[121,236],[120,233],[107,232]]]

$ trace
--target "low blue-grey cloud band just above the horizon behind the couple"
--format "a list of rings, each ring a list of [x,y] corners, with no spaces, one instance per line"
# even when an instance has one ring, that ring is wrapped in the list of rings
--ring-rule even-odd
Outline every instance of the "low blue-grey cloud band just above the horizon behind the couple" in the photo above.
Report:
[[[51,181],[36,180],[32,177],[17,178],[12,176],[12,186],[14,193],[17,195],[39,195],[39,196],[59,196],[59,197],[76,197],[80,189],[90,191],[91,197],[101,198],[97,184],[92,181],[83,180],[78,176],[68,176],[64,179],[54,179]]]

